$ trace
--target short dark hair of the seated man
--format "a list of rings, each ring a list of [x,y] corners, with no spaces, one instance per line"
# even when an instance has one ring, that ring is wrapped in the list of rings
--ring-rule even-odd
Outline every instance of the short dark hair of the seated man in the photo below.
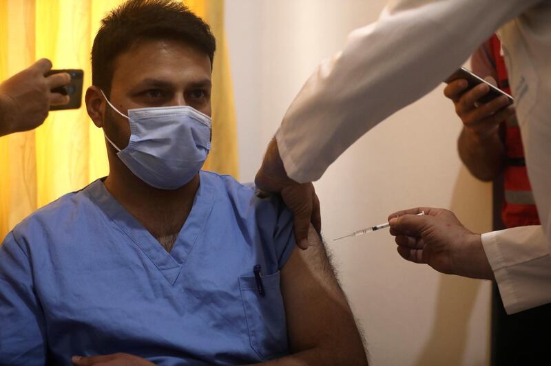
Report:
[[[114,59],[140,39],[182,41],[214,60],[216,39],[207,23],[183,3],[172,0],[129,0],[107,14],[92,46],[92,84],[109,95]]]

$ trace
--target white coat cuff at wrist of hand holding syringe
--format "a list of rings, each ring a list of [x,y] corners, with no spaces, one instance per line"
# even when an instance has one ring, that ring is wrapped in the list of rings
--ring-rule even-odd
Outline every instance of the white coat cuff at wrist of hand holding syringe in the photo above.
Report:
[[[541,226],[482,234],[507,314],[551,303],[551,252]]]

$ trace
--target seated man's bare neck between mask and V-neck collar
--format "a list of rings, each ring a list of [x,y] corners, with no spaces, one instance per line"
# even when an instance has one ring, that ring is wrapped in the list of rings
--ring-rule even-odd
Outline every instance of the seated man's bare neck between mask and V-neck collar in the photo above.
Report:
[[[113,168],[112,164],[110,167]],[[149,186],[125,166],[117,168],[111,169],[105,188],[170,252],[191,212],[199,188],[199,174],[185,186],[164,190]]]

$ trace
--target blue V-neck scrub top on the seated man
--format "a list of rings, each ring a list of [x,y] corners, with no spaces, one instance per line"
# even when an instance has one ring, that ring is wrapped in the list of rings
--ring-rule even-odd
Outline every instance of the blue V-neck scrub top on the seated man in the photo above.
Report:
[[[289,354],[279,271],[294,244],[279,200],[202,171],[168,253],[96,180],[3,241],[0,364],[116,352],[159,365],[242,364]]]

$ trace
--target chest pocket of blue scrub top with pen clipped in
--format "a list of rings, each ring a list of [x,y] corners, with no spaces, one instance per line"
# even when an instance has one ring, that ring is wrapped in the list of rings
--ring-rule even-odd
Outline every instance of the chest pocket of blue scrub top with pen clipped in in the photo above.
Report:
[[[251,347],[262,360],[270,360],[289,354],[280,272],[260,275],[261,283],[258,275],[251,271],[250,276],[239,277],[239,288]]]

